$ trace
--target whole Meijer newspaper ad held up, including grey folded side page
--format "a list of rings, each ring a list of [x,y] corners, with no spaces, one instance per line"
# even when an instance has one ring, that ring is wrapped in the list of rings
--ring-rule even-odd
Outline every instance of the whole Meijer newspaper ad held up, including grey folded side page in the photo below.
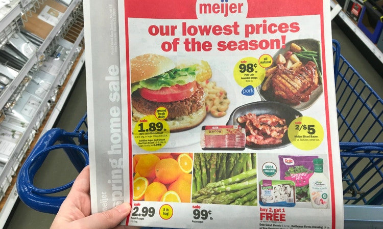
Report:
[[[328,1],[85,2],[93,212],[343,228]]]

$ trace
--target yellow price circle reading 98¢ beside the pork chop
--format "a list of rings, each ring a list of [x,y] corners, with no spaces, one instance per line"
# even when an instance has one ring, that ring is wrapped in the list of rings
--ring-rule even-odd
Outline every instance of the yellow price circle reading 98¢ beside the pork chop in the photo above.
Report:
[[[234,79],[243,88],[252,85],[254,88],[265,79],[265,68],[262,68],[258,59],[253,57],[243,58],[234,66]]]

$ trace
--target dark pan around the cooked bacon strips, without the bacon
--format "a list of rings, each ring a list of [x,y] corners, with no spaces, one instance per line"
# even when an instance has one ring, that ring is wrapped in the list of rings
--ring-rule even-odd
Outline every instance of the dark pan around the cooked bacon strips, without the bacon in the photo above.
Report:
[[[280,102],[253,102],[253,103],[242,105],[234,109],[226,125],[240,125],[242,127],[245,127],[245,124],[237,122],[237,118],[247,115],[248,113],[255,113],[256,115],[265,115],[265,114],[275,115],[281,119],[285,119],[286,125],[288,127],[293,120],[302,116],[302,114],[296,109]],[[253,144],[250,146],[246,145],[246,148],[252,149],[252,150],[271,150],[271,149],[283,148],[290,144],[291,142],[286,132],[282,138],[281,144],[278,144],[278,145]]]

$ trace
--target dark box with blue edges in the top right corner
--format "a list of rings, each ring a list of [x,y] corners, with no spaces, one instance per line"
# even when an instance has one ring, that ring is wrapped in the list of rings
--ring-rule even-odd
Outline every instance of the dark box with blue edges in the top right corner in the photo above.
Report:
[[[376,2],[376,5],[382,6],[383,0]],[[357,25],[376,44],[383,30],[383,13],[372,2],[366,1]]]

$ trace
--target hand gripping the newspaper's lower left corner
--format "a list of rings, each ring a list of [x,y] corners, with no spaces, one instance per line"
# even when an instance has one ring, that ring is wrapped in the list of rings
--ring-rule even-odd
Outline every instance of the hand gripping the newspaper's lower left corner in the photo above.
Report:
[[[114,228],[130,213],[128,203],[121,204],[109,211],[91,215],[90,208],[89,165],[76,178],[68,196],[62,203],[51,229],[57,228]],[[124,227],[124,226],[118,226]],[[126,228],[126,227],[124,227]]]

